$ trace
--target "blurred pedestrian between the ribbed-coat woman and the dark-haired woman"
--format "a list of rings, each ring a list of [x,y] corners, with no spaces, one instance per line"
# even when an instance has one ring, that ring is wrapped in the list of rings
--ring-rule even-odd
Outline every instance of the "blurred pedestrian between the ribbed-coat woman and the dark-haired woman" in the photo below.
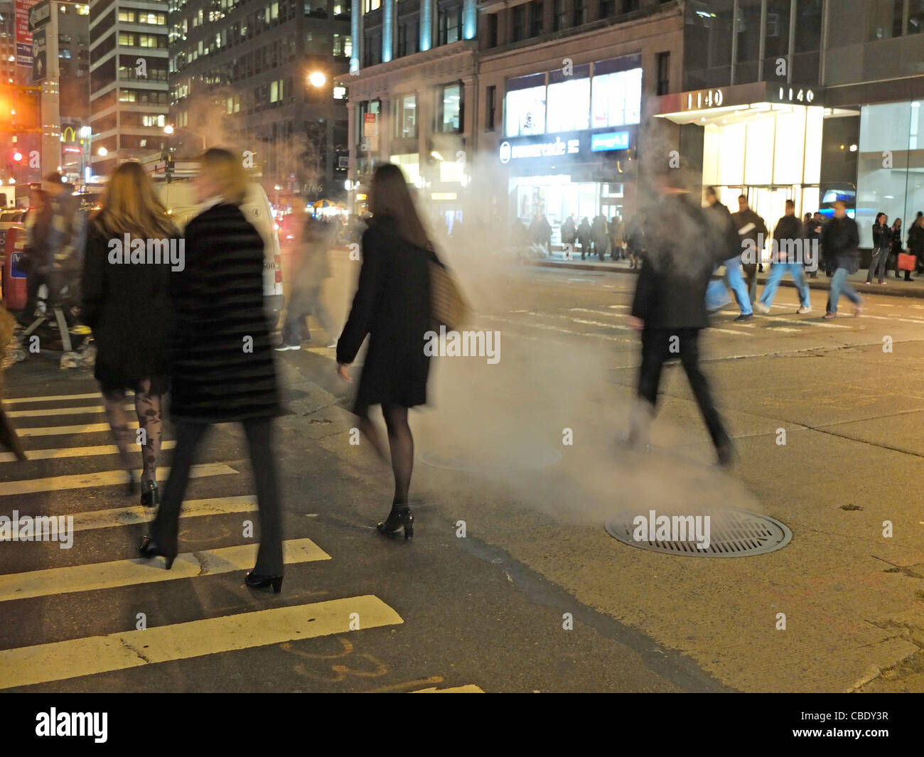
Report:
[[[301,349],[303,341],[310,342],[311,332],[306,322],[314,315],[321,323],[326,335],[327,347],[333,348],[336,327],[322,297],[324,279],[330,278],[331,266],[328,249],[331,243],[331,227],[324,221],[315,220],[304,213],[304,200],[293,201],[295,221],[296,260],[293,266],[292,284],[286,307],[286,323],[283,325],[282,344],[276,349]]]

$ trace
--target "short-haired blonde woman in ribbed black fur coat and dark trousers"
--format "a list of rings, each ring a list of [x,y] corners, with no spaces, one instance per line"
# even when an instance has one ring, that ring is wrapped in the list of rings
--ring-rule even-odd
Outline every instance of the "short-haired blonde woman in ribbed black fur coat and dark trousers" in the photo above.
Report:
[[[205,206],[185,229],[186,268],[171,282],[176,324],[169,339],[170,416],[176,449],[164,502],[141,543],[142,556],[177,551],[177,521],[189,468],[212,423],[240,421],[260,509],[260,550],[248,586],[283,580],[282,521],[273,454],[279,399],[270,324],[263,310],[263,240],[241,213],[247,177],[225,150],[209,150],[196,178]]]

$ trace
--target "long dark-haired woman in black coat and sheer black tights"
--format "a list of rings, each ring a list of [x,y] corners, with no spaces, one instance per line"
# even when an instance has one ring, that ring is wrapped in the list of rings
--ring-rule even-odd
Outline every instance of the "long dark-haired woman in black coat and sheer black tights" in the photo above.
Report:
[[[337,342],[338,372],[350,381],[346,365],[355,360],[370,335],[366,362],[359,378],[354,412],[359,430],[379,457],[385,457],[369,408],[381,405],[395,473],[395,498],[379,531],[405,538],[414,534],[414,516],[407,505],[414,467],[414,438],[407,409],[427,401],[430,358],[424,351],[432,329],[430,249],[401,169],[380,165],[370,187],[372,223],[362,235],[362,268],[349,318]]]

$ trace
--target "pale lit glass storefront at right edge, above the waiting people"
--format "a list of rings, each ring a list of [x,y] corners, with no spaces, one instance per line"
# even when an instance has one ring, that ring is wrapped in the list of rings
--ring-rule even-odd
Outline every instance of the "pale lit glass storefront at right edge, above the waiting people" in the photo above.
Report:
[[[860,109],[857,226],[860,245],[872,246],[876,214],[902,219],[907,237],[924,211],[924,105],[921,101],[864,105]],[[904,241],[904,239],[903,239]]]

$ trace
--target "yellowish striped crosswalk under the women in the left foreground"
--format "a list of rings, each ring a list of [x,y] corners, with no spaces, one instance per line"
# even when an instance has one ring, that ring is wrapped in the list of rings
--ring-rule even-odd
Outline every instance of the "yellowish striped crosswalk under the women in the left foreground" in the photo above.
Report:
[[[241,653],[294,642],[305,644],[310,643],[306,640],[340,634],[350,634],[352,638],[368,629],[400,627],[404,623],[393,607],[374,594],[279,606],[280,602],[272,599],[274,595],[267,593],[270,599],[265,604],[269,606],[264,609],[254,610],[253,602],[248,604],[242,600],[236,608],[239,611],[232,614],[140,628],[134,625],[134,617],[131,617],[132,625],[103,635],[81,635],[81,624],[72,622],[64,624],[65,629],[75,629],[70,630],[68,638],[55,638],[55,634],[61,632],[55,628],[48,629],[53,641],[47,636],[43,639],[46,629],[42,617],[30,617],[30,613],[35,612],[41,615],[42,605],[33,602],[27,609],[25,604],[30,600],[41,602],[56,598],[106,606],[110,592],[141,587],[151,592],[153,601],[169,604],[173,596],[171,587],[228,573],[238,573],[243,578],[244,571],[254,565],[257,544],[253,541],[240,543],[247,540],[229,535],[227,545],[178,555],[171,570],[164,570],[161,559],[99,560],[98,553],[94,553],[96,557],[85,557],[82,562],[70,559],[72,553],[67,550],[75,545],[78,548],[73,555],[86,555],[86,551],[79,549],[79,539],[83,536],[101,537],[102,543],[108,543],[103,537],[110,535],[115,537],[112,541],[116,543],[124,532],[128,542],[129,534],[125,530],[152,519],[152,511],[137,504],[113,507],[124,496],[126,474],[124,470],[105,470],[114,465],[117,469],[118,461],[116,446],[102,444],[108,434],[108,425],[105,422],[67,422],[75,415],[92,416],[103,412],[96,392],[24,395],[7,398],[5,403],[9,406],[8,414],[21,421],[19,433],[30,461],[18,462],[12,455],[0,454],[0,611],[8,619],[15,617],[16,624],[23,628],[39,632],[30,634],[23,646],[0,648],[0,690],[193,659],[213,661],[217,671],[222,658],[209,655]],[[62,421],[62,424],[32,425],[55,421]],[[84,439],[97,444],[85,444]],[[166,450],[173,446],[172,441],[164,443]],[[33,460],[38,462],[31,462]],[[73,471],[75,467],[80,471],[63,472]],[[237,464],[227,462],[207,462],[193,466],[191,476],[224,482],[222,489],[246,490],[250,485],[249,473],[242,474],[238,468]],[[164,481],[168,470],[159,469],[159,480]],[[30,476],[30,471],[41,475]],[[81,491],[90,491],[92,495],[82,498]],[[103,495],[99,494],[101,491]],[[55,502],[64,493],[68,494],[67,504],[56,509]],[[75,501],[83,503],[84,507],[75,508]],[[235,513],[255,515],[255,510],[256,497],[250,493],[193,498],[184,503],[181,522],[188,524],[191,519]],[[27,522],[29,528],[24,526]],[[64,543],[65,531],[69,543]],[[60,543],[24,543],[52,540]],[[334,556],[310,538],[292,538],[283,547],[287,567],[334,560]],[[26,555],[22,550],[30,548],[54,550],[50,557],[49,553],[43,553],[43,557],[48,557],[43,565],[50,564],[50,567],[17,570],[22,556]],[[59,548],[62,549],[60,553]],[[124,548],[120,554],[125,554]],[[35,555],[33,551],[31,556]],[[34,568],[34,559],[27,564]],[[20,615],[16,614],[18,610]],[[426,679],[426,682],[442,681],[440,677]],[[404,690],[449,692],[480,691],[480,688],[468,684]]]

